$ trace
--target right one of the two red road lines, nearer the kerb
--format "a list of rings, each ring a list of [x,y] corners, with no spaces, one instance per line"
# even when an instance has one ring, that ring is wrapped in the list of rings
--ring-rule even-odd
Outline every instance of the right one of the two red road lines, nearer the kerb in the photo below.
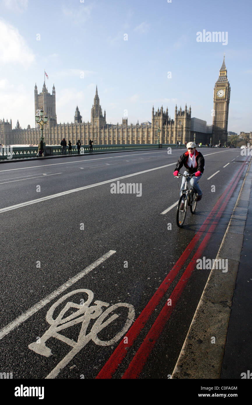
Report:
[[[134,378],[139,377],[150,353],[152,352],[152,349],[153,349],[158,337],[162,333],[162,330],[163,330],[165,324],[169,320],[169,318],[173,312],[173,309],[175,308],[175,306],[177,304],[179,297],[181,296],[189,278],[191,277],[191,275],[196,267],[196,260],[199,257],[201,257],[205,248],[207,247],[207,243],[209,242],[209,239],[211,238],[211,235],[213,234],[213,232],[218,224],[218,221],[220,220],[220,217],[222,216],[222,213],[223,213],[227,203],[229,202],[231,195],[233,194],[233,191],[235,190],[235,187],[242,175],[244,166],[245,166],[245,163],[241,166],[239,176],[237,177],[235,183],[233,184],[233,187],[231,188],[226,200],[222,204],[220,211],[216,215],[216,218],[214,219],[213,224],[210,226],[209,230],[207,231],[207,234],[205,235],[203,241],[199,245],[199,248],[197,249],[196,253],[194,254],[191,262],[188,264],[186,270],[184,271],[183,275],[181,276],[177,285],[175,286],[171,296],[169,297],[171,299],[172,305],[168,306],[167,304],[165,304],[164,307],[162,308],[160,314],[158,315],[158,318],[152,325],[152,328],[149,330],[143,343],[139,347],[139,350],[137,351],[137,353],[133,357],[132,361],[130,362],[128,368],[126,369],[126,371],[122,377],[123,379],[134,379]]]

